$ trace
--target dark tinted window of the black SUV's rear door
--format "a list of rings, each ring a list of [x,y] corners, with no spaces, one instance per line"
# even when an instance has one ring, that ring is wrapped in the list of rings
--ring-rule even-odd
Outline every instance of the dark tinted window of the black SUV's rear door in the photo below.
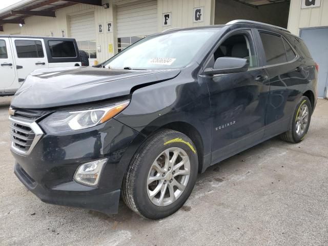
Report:
[[[269,33],[260,32],[267,65],[285,63],[287,61],[282,38]]]

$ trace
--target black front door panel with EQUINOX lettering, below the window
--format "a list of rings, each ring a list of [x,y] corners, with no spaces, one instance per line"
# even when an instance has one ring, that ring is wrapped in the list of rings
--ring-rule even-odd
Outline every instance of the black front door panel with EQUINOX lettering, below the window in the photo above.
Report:
[[[214,76],[208,81],[211,96],[212,160],[242,151],[263,137],[269,86],[264,69]]]

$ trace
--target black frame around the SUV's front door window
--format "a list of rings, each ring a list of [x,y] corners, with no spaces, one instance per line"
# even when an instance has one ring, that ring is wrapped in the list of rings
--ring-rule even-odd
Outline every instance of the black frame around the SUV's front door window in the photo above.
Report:
[[[253,68],[249,68],[249,71],[250,70],[257,70],[260,68],[259,66],[259,59],[258,59],[258,50],[257,50],[257,45],[256,45],[256,40],[255,40],[255,37],[254,37],[254,33],[253,33],[253,28],[240,28],[240,29],[235,29],[235,30],[232,30],[230,32],[228,32],[227,34],[224,34],[222,38],[220,38],[220,42],[218,42],[211,50],[211,52],[209,53],[209,55],[207,56],[207,58],[205,59],[204,63],[203,63],[203,70],[208,68],[209,66],[209,63],[211,62],[211,60],[214,59],[214,53],[215,51],[220,47],[220,45],[224,42],[224,40],[226,40],[227,38],[229,38],[230,36],[232,35],[236,35],[236,34],[244,34],[244,35],[247,35],[247,37],[251,37],[251,41],[254,45],[254,52],[255,52],[255,56],[257,57],[257,64],[258,66],[257,67],[253,67]],[[249,42],[250,40],[248,40]],[[203,75],[203,71],[201,73]],[[216,76],[216,75],[214,75]]]

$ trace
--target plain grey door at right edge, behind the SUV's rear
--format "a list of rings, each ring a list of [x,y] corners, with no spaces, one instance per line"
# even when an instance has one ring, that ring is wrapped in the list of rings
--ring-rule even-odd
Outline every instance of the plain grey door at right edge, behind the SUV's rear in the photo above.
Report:
[[[328,28],[303,29],[300,36],[320,66],[318,96],[325,98],[328,84]]]

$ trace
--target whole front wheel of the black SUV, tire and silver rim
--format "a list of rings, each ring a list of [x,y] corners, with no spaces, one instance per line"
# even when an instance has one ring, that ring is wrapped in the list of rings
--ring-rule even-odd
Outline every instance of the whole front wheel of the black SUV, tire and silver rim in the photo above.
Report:
[[[134,212],[160,219],[186,202],[196,182],[198,156],[191,139],[163,130],[151,137],[132,160],[122,184],[122,196]]]

